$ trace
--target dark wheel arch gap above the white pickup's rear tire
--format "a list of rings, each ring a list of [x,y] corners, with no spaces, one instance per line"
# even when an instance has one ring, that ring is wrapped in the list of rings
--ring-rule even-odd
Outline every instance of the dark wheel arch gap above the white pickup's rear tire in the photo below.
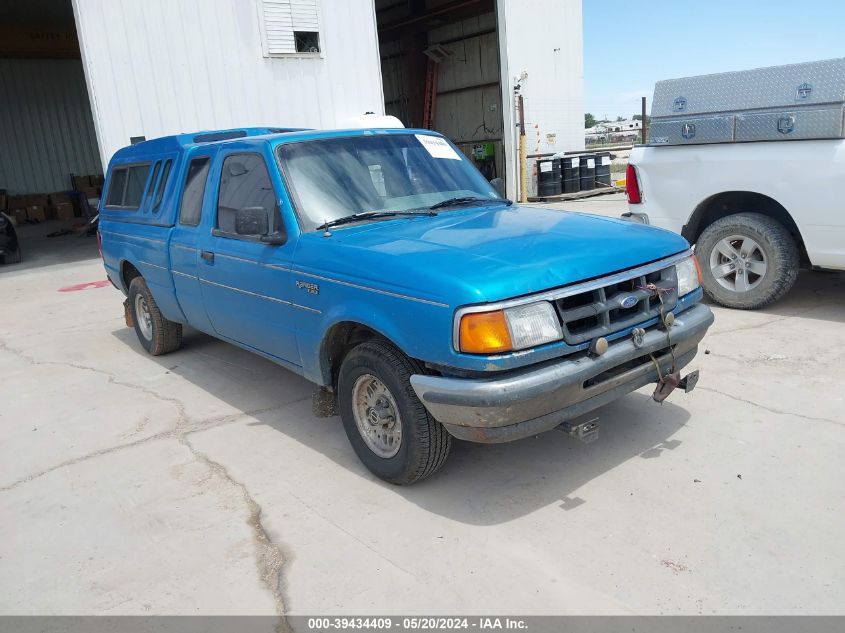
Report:
[[[690,244],[695,244],[713,222],[738,213],[760,213],[780,222],[795,240],[801,260],[808,261],[804,238],[792,215],[780,202],[756,191],[723,191],[705,198],[692,212],[681,235]]]

